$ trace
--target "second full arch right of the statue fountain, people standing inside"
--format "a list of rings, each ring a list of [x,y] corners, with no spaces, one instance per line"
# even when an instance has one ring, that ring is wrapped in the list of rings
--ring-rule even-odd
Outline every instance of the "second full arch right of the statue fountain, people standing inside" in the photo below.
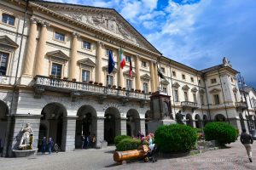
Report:
[[[92,146],[87,143],[87,137],[97,135],[97,114],[96,109],[91,105],[80,106],[77,112],[76,120],[76,134],[75,134],[75,148],[85,148]],[[84,136],[84,139],[83,139]],[[85,141],[83,143],[83,140]],[[94,146],[93,146],[94,147]]]

